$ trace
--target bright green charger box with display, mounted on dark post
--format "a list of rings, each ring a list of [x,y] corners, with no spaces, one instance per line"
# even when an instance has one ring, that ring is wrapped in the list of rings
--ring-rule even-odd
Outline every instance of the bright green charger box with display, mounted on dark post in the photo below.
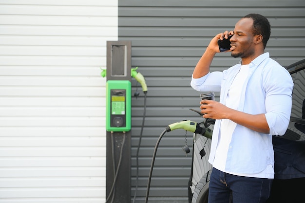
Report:
[[[127,132],[131,129],[131,82],[109,80],[106,83],[106,130]]]

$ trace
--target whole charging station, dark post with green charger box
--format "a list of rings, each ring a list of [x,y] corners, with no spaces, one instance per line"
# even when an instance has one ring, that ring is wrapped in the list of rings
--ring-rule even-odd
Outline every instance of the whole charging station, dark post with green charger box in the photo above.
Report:
[[[106,74],[106,202],[129,203],[131,41],[107,41]]]

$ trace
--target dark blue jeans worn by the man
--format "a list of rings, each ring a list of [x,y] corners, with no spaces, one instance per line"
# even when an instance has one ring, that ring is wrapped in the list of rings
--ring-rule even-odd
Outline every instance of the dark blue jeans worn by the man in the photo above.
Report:
[[[272,179],[236,176],[213,168],[209,203],[265,203]]]

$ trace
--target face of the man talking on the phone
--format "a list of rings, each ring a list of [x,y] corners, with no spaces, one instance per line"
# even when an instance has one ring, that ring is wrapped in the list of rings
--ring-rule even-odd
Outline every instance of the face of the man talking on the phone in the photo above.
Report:
[[[254,55],[254,36],[252,33],[253,20],[252,18],[240,19],[234,28],[234,36],[231,41],[231,56],[237,57],[250,57]]]

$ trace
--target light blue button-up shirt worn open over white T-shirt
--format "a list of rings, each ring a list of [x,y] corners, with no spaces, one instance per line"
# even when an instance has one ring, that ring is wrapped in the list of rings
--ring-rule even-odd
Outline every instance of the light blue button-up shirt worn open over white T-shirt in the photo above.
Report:
[[[240,68],[241,64],[236,64],[223,72],[192,77],[191,87],[200,92],[220,92],[220,103],[225,104],[229,87]],[[293,81],[288,71],[271,59],[269,53],[255,58],[249,64],[249,70],[237,111],[265,113],[270,132],[264,134],[237,125],[229,144],[226,171],[254,174],[263,171],[267,165],[274,166],[272,135],[283,135],[288,127]],[[221,120],[216,120],[213,129],[211,164],[221,136],[220,123]]]

